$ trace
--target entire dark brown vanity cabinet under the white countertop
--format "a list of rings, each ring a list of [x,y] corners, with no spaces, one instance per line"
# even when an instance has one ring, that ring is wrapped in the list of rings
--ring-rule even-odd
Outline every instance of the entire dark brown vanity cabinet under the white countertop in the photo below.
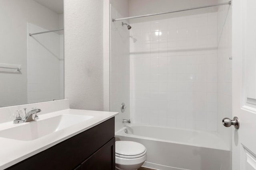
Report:
[[[114,117],[8,170],[114,170]]]

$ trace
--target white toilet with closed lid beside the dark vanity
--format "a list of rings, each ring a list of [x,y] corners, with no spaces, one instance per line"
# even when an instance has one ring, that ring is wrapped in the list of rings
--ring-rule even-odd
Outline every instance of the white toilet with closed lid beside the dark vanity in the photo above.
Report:
[[[146,147],[133,141],[116,141],[116,170],[137,170],[146,160]]]

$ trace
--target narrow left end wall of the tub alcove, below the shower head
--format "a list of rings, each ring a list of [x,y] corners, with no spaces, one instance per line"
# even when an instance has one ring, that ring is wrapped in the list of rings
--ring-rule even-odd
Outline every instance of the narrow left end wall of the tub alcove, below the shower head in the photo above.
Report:
[[[128,0],[111,0],[111,17],[129,15]],[[128,23],[128,21],[123,21]],[[122,26],[122,21],[111,22],[111,111],[119,112],[115,118],[115,130],[125,124],[122,119],[130,119],[130,30]],[[126,104],[126,111],[121,112],[121,104]]]

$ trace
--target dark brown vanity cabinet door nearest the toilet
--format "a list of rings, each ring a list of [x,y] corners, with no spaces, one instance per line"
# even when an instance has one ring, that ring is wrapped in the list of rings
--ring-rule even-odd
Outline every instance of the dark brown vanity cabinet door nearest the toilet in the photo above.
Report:
[[[81,170],[115,170],[115,138],[86,159]]]

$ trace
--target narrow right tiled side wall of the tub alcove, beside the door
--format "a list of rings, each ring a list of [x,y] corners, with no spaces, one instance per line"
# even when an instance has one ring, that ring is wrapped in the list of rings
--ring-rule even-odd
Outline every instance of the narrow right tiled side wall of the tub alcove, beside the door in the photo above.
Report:
[[[232,129],[224,127],[222,119],[232,118],[231,36],[231,6],[221,6],[218,10],[218,135],[230,147]]]

